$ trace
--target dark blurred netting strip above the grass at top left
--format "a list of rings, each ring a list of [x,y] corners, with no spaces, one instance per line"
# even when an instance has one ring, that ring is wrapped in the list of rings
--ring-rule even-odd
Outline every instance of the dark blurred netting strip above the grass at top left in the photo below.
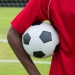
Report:
[[[24,7],[28,0],[0,0],[0,7]]]

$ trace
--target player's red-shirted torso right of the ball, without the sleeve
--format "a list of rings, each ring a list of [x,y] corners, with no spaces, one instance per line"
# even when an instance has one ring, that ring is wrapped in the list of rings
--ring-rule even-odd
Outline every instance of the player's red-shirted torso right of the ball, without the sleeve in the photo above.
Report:
[[[75,0],[51,0],[49,10],[49,20],[60,38],[50,75],[75,75]]]

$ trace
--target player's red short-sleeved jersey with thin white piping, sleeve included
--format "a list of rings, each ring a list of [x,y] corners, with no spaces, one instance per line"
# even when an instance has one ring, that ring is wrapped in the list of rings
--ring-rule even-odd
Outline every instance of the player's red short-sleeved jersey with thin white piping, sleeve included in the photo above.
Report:
[[[75,0],[30,0],[11,22],[20,34],[35,21],[50,20],[58,31],[59,51],[53,55],[49,75],[75,75]]]

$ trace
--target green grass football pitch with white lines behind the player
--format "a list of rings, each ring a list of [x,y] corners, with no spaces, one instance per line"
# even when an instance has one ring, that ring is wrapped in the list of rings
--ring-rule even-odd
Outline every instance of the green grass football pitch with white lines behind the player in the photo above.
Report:
[[[6,40],[10,22],[22,8],[0,8],[0,40]],[[48,75],[50,58],[32,58],[41,75]],[[0,42],[0,75],[29,75],[7,42]]]

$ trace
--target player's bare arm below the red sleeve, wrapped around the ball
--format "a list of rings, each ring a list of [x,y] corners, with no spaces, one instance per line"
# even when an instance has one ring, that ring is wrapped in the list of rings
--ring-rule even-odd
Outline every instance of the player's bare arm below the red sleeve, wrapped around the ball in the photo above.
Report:
[[[29,75],[41,75],[31,60],[30,56],[24,51],[22,46],[22,35],[20,35],[12,26],[10,27],[7,40],[12,50],[20,60]]]

